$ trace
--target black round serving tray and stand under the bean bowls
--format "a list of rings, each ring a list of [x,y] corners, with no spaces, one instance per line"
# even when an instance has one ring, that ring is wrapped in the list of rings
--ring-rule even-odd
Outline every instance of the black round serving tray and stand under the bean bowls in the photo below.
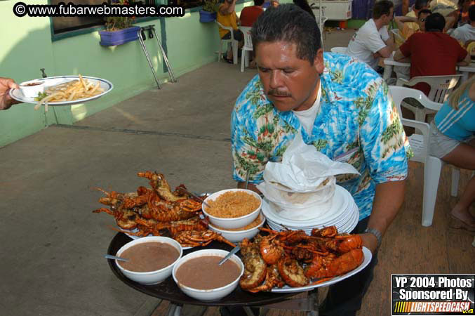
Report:
[[[117,251],[126,244],[130,242],[131,238],[127,235],[118,232],[112,242],[109,244],[109,249],[107,249],[107,254],[115,256]],[[223,244],[220,242],[212,242],[206,247],[200,247],[200,249],[223,249],[226,251],[231,250],[231,246]],[[195,249],[196,250],[196,249]],[[183,256],[194,251],[194,249],[183,250]],[[181,312],[181,306],[183,304],[191,305],[206,305],[206,306],[255,306],[262,308],[283,308],[283,309],[293,309],[295,310],[309,310],[310,315],[318,315],[318,288],[309,292],[309,297],[307,298],[295,298],[288,299],[290,296],[295,296],[296,294],[302,293],[285,293],[285,294],[276,294],[270,292],[258,292],[250,293],[248,291],[243,291],[239,286],[228,296],[220,299],[220,301],[198,301],[194,298],[191,298],[184,294],[180,288],[175,284],[173,277],[168,277],[163,282],[154,285],[144,285],[138,282],[134,282],[131,279],[125,277],[122,272],[117,268],[117,265],[114,260],[108,259],[109,267],[111,268],[114,275],[118,277],[123,283],[127,284],[129,287],[141,291],[149,296],[154,296],[156,298],[161,298],[166,301],[170,301],[170,309],[168,310],[169,316],[178,316]],[[278,305],[268,305],[279,303]]]

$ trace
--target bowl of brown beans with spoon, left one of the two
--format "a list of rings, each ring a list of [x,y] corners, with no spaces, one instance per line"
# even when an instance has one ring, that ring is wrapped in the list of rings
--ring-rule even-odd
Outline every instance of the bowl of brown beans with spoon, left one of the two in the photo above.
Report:
[[[174,239],[149,236],[124,244],[116,256],[128,261],[116,260],[119,270],[140,284],[158,284],[171,275],[173,266],[182,257],[180,244]]]

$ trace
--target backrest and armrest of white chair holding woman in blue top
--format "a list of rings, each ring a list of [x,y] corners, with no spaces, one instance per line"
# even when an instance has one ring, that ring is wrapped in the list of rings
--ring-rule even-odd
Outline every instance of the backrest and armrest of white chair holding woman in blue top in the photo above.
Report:
[[[425,159],[427,158],[427,154],[429,152],[429,136],[430,136],[429,124],[423,121],[415,121],[413,119],[404,119],[401,113],[401,103],[405,98],[415,98],[424,107],[427,107],[428,109],[435,110],[435,111],[439,110],[442,104],[432,102],[431,100],[429,100],[429,98],[427,98],[427,96],[425,96],[425,94],[422,91],[413,89],[413,88],[406,88],[403,86],[389,86],[389,93],[392,96],[394,105],[396,105],[397,107],[397,110],[399,112],[399,117],[401,118],[401,122],[403,126],[410,126],[422,131],[423,141],[420,142],[419,148],[417,148],[417,150],[413,148],[413,151],[415,154],[415,157],[413,157],[413,160],[417,162],[425,162]]]

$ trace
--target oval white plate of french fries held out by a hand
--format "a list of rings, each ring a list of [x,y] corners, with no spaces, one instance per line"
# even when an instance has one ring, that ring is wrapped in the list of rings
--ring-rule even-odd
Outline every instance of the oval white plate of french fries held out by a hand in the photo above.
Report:
[[[88,76],[59,76],[35,79],[44,82],[44,91],[38,96],[26,97],[20,89],[11,89],[10,96],[22,103],[35,104],[35,110],[41,105],[48,109],[48,105],[74,105],[85,103],[104,96],[114,88],[114,85],[106,80]]]

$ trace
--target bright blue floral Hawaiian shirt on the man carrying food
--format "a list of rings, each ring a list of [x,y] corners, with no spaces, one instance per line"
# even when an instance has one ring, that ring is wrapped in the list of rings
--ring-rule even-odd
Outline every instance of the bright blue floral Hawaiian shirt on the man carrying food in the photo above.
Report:
[[[258,75],[244,88],[231,119],[233,178],[242,182],[249,171],[250,183],[262,182],[265,164],[280,162],[300,131],[305,143],[361,173],[337,176],[337,184],[352,194],[362,220],[377,183],[406,178],[412,152],[384,80],[347,55],[324,53],[323,60],[321,110],[310,135],[292,111],[274,108]]]

